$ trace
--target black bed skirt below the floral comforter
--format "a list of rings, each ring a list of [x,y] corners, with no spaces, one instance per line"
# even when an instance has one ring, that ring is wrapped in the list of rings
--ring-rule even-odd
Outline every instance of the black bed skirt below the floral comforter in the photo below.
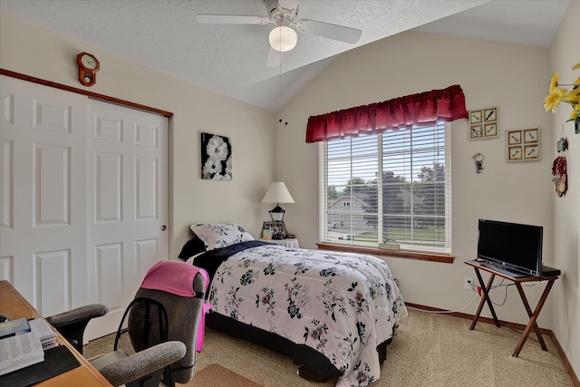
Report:
[[[341,376],[341,372],[333,366],[333,363],[326,356],[304,344],[293,343],[277,334],[212,312],[206,315],[206,326],[291,358],[296,365],[300,365],[298,373],[304,379],[326,382]],[[381,364],[387,358],[387,344],[391,343],[391,340],[389,339],[377,346]]]

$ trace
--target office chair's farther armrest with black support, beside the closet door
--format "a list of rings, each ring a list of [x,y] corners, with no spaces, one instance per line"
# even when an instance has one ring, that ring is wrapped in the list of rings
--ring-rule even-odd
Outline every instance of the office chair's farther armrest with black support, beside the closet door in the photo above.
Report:
[[[109,313],[105,305],[85,305],[68,312],[46,317],[46,321],[63,335],[73,347],[82,354],[82,335],[92,318],[101,317]]]

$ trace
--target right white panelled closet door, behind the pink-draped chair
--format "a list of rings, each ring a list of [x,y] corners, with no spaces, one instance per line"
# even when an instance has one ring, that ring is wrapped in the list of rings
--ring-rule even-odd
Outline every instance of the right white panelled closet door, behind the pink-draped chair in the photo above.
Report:
[[[169,119],[89,100],[89,256],[109,314],[85,340],[115,332],[143,276],[169,259]]]

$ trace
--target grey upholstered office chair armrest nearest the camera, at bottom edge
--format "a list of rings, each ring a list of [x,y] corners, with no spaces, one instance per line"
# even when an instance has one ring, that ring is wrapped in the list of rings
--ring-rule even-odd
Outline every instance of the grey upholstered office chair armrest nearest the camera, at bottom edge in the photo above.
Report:
[[[113,386],[120,386],[177,362],[186,351],[185,344],[178,341],[160,343],[106,365],[99,372]]]

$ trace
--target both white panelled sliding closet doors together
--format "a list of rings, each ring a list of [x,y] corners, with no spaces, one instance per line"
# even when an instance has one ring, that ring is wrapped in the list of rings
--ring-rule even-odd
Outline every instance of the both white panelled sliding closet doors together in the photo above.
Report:
[[[169,259],[169,119],[0,76],[0,279],[43,315],[102,303],[115,332]]]

